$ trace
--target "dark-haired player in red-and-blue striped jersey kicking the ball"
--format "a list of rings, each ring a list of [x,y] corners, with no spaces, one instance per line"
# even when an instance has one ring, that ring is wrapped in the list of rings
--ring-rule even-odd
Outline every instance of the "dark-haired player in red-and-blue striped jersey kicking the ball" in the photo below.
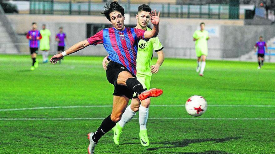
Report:
[[[114,85],[113,110],[103,120],[95,133],[88,134],[90,141],[88,146],[89,154],[94,153],[98,140],[121,119],[134,92],[138,94],[139,100],[157,97],[163,93],[161,89],[144,89],[142,84],[136,79],[138,41],[149,40],[158,35],[160,12],[158,14],[156,10],[151,12],[150,19],[154,26],[151,31],[145,31],[136,28],[126,28],[124,26],[124,8],[118,2],[111,2],[105,8],[102,14],[112,23],[112,28],[100,30],[97,34],[88,38],[88,40],[78,42],[50,59],[51,63],[56,64],[63,56],[73,54],[91,44],[103,44],[109,54],[111,62],[108,64],[106,76],[108,82]]]

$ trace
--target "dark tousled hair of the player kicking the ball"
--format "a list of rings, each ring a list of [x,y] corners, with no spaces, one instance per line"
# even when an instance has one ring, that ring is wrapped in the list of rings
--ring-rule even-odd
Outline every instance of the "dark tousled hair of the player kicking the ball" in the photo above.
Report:
[[[104,10],[104,12],[101,12],[101,14],[103,14],[109,21],[111,21],[111,12],[118,11],[122,14],[122,16],[124,16],[124,8],[120,6],[117,1],[111,2],[110,4],[107,3],[104,8],[106,9]]]

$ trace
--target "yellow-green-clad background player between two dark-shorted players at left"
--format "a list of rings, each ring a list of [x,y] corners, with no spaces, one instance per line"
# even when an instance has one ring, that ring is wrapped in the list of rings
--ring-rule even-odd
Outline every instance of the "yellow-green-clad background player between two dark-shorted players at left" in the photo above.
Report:
[[[43,63],[48,62],[48,50],[50,49],[50,42],[51,42],[51,32],[50,30],[46,29],[46,25],[42,25],[42,30],[40,30],[40,34],[42,35],[42,39],[40,40],[40,50],[42,52]]]

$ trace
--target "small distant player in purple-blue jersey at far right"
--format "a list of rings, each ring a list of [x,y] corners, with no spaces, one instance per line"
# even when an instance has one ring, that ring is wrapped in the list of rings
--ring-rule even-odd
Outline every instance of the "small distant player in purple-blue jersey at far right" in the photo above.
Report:
[[[255,46],[254,46],[254,50],[256,52],[256,49],[258,48],[258,69],[262,68],[263,65],[263,61],[264,61],[264,54],[265,52],[267,52],[267,44],[265,43],[265,41],[262,40],[262,35],[259,36],[259,41],[256,42]],[[266,50],[264,49],[266,48]],[[262,60],[262,63],[261,63]]]

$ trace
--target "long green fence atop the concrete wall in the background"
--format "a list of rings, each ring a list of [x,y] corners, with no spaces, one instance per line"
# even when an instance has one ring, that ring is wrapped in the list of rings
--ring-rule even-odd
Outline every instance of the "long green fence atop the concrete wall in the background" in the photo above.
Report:
[[[120,3],[125,13],[134,16],[140,4]],[[106,3],[88,2],[51,2],[30,0],[30,14],[67,14],[67,15],[100,15]],[[162,17],[178,18],[217,18],[229,19],[228,4],[175,5],[148,3],[152,9],[161,12]],[[238,10],[235,9],[235,12]]]

